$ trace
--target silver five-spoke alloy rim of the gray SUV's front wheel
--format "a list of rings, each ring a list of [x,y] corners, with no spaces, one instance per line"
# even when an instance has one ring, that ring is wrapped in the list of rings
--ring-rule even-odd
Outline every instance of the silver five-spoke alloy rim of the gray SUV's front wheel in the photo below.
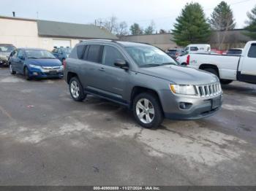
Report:
[[[154,106],[146,98],[141,98],[136,104],[136,114],[141,122],[151,123],[154,120]]]

